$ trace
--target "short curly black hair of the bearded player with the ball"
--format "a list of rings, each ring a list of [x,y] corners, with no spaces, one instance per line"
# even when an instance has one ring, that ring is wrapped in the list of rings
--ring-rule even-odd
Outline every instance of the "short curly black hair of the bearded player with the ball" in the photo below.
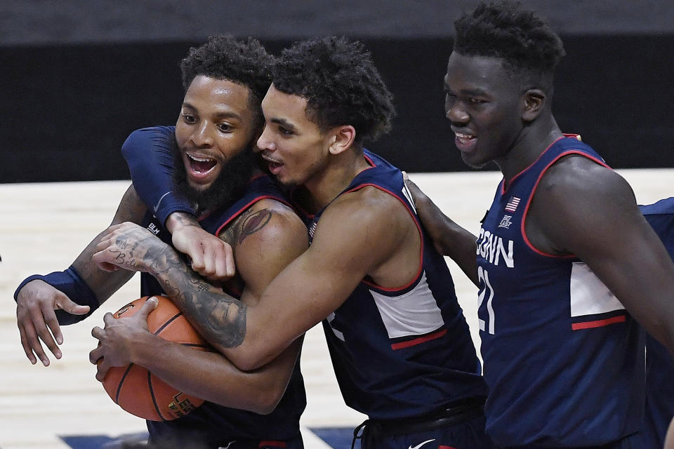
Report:
[[[198,75],[242,84],[251,91],[249,100],[258,112],[256,125],[260,125],[263,119],[260,102],[272,83],[274,62],[275,58],[256,39],[243,41],[227,35],[210,36],[203,45],[190,48],[187,58],[180,62],[183,88],[187,91]]]

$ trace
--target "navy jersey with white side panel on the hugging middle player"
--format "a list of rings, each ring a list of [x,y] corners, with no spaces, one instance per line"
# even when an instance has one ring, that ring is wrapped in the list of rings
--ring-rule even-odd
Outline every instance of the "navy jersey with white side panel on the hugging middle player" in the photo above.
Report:
[[[363,279],[323,321],[345,403],[385,420],[487,396],[449,269],[421,229],[402,173],[376,154],[364,154],[371,168],[341,194],[371,186],[394,196],[414,219],[423,244],[418,274],[408,285],[382,288]],[[311,238],[321,214],[309,217]]]

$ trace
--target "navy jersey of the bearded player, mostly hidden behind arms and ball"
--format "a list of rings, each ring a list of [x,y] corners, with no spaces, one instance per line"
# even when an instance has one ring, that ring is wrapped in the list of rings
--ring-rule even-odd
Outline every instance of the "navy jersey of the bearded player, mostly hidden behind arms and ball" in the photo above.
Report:
[[[201,217],[199,223],[207,232],[218,235],[244,210],[262,199],[275,199],[288,204],[278,185],[269,176],[260,175],[249,182],[241,199],[231,206],[214,210],[209,215]],[[145,220],[144,226],[147,229],[159,236],[162,241],[171,244],[171,234],[159,224],[156,217],[148,213]],[[163,291],[159,283],[147,273],[141,274],[140,282],[143,296],[156,295]],[[237,288],[227,288],[227,293],[238,298],[241,292],[236,290]],[[283,441],[300,437],[299,420],[305,406],[304,382],[298,361],[283,398],[269,415],[226,408],[206,401],[184,417],[166,422],[148,421],[147,427],[151,436],[166,438],[166,435],[176,435],[176,438],[186,441],[185,436],[193,435],[193,438],[204,439],[213,447],[218,445],[226,447],[230,441],[241,439]]]

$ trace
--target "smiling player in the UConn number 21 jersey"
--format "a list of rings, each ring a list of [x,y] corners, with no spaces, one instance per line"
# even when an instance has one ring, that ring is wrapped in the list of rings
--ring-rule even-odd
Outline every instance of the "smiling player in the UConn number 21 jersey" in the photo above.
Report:
[[[674,264],[628,183],[557,127],[559,37],[510,3],[455,25],[444,77],[455,145],[468,165],[503,173],[477,250],[414,192],[436,248],[480,288],[487,433],[503,448],[655,448],[636,435],[637,320],[674,348]]]

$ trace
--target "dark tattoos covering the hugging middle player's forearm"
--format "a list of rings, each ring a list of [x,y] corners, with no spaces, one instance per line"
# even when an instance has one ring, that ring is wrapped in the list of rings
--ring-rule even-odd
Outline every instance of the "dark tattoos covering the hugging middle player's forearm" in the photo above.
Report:
[[[202,280],[168,246],[157,256],[154,277],[199,333],[217,346],[242,344],[246,305]]]

